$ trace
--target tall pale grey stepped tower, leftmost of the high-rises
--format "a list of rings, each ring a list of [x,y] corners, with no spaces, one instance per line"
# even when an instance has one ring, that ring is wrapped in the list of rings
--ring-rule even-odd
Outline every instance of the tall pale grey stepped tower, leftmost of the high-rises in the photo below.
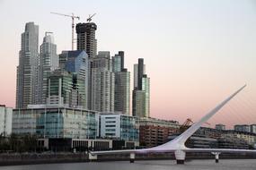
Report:
[[[28,22],[22,33],[16,80],[16,107],[36,103],[39,65],[39,26]]]

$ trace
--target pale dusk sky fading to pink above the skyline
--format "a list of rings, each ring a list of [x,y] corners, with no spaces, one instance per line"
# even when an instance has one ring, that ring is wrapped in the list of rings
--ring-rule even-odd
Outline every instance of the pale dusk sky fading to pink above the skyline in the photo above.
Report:
[[[97,13],[98,51],[125,51],[131,80],[133,64],[145,59],[152,117],[197,121],[246,83],[208,123],[256,123],[255,0],[0,0],[0,104],[15,106],[26,22],[40,26],[40,44],[52,31],[58,54],[71,49],[71,19],[50,12],[82,22]]]

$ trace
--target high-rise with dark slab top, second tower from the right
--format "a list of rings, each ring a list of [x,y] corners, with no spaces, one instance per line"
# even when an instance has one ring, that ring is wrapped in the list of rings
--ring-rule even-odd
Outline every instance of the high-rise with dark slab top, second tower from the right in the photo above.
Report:
[[[112,57],[112,68],[115,73],[115,112],[129,115],[130,106],[130,72],[124,68],[124,52]]]

